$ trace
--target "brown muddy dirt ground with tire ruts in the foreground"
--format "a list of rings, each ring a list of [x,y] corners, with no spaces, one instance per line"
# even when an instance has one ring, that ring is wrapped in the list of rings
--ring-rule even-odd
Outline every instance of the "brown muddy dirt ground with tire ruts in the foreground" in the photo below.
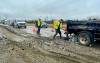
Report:
[[[0,27],[0,32],[6,36],[0,41],[0,63],[100,63],[98,47],[27,33],[22,36],[20,30],[16,31],[13,33],[6,26]]]

